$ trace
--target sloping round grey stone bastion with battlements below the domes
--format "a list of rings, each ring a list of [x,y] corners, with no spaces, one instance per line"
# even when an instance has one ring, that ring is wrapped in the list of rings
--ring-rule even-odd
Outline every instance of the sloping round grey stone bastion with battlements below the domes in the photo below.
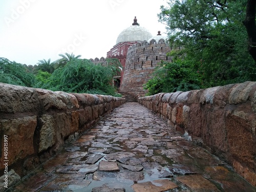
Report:
[[[143,84],[151,77],[161,60],[172,61],[166,56],[171,50],[164,39],[149,43],[145,40],[138,42],[128,49],[125,62],[125,71],[120,92],[126,92],[134,96],[144,96]]]

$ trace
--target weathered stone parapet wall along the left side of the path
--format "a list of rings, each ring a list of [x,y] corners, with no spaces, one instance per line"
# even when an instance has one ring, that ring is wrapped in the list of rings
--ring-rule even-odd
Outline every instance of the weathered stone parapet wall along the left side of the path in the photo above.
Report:
[[[8,169],[22,177],[59,152],[65,140],[90,129],[124,102],[125,99],[112,96],[0,83],[0,172],[5,169],[5,135]]]

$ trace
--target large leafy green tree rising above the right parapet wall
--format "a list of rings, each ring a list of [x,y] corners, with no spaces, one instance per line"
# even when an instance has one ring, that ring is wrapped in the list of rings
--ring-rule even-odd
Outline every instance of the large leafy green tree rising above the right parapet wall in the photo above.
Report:
[[[161,7],[159,20],[175,49],[169,56],[199,71],[203,87],[256,80],[243,25],[246,1],[169,1]]]

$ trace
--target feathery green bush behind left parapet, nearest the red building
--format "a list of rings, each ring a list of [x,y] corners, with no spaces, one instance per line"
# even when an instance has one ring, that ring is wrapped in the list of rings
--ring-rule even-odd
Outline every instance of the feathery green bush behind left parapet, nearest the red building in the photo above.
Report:
[[[112,78],[117,73],[112,65],[94,65],[88,59],[72,59],[56,69],[41,86],[52,91],[114,95]]]

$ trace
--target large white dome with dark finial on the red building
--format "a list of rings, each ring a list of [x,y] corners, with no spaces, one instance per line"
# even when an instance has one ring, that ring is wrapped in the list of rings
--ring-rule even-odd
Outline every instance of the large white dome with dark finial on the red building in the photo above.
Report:
[[[124,41],[143,41],[151,38],[153,35],[144,27],[140,27],[137,18],[131,27],[124,29],[117,37],[116,44]]]

